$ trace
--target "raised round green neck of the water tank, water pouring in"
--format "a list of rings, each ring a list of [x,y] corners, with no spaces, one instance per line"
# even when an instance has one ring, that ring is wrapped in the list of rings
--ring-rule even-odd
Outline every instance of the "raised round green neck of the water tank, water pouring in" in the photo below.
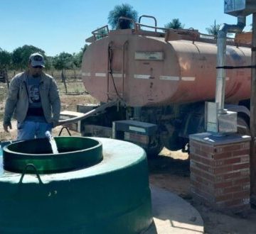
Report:
[[[90,167],[102,161],[102,143],[83,137],[55,137],[53,154],[47,138],[22,140],[3,148],[4,169],[10,172],[49,174]]]

